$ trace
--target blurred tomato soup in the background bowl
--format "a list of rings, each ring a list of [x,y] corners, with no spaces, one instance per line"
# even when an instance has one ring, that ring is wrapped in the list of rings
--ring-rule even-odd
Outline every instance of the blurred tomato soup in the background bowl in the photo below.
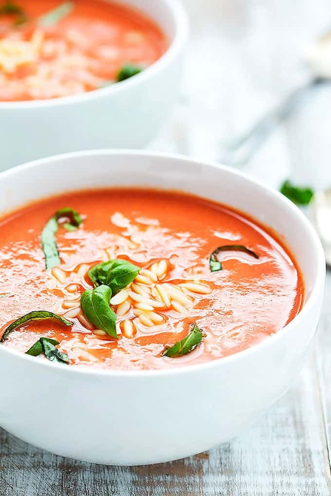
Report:
[[[0,2],[0,101],[103,88],[143,70],[167,46],[151,19],[119,3]]]

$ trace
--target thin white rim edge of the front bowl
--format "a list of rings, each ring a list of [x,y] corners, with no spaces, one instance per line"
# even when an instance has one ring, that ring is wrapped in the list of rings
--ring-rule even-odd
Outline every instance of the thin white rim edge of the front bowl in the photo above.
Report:
[[[236,169],[233,169],[229,166],[222,165],[216,162],[210,162],[210,161],[201,161],[199,159],[191,158],[185,155],[180,155],[180,154],[171,154],[171,153],[162,153],[162,152],[154,152],[154,151],[148,151],[148,150],[127,150],[127,149],[96,149],[96,150],[83,150],[83,151],[78,151],[78,152],[70,152],[70,153],[63,153],[59,155],[53,155],[50,157],[34,160],[32,162],[27,162],[25,164],[13,167],[11,169],[8,169],[6,171],[3,171],[0,173],[0,182],[2,179],[4,179],[7,176],[19,174],[20,171],[24,170],[29,170],[33,169],[34,167],[37,167],[39,165],[47,165],[48,163],[54,163],[57,161],[62,161],[66,159],[71,159],[71,158],[83,158],[83,157],[98,157],[98,156],[121,156],[122,158],[124,157],[132,157],[136,156],[139,158],[152,158],[155,160],[158,159],[168,159],[170,161],[175,160],[175,161],[181,161],[181,162],[189,162],[189,163],[194,163],[196,165],[200,166],[208,166],[208,167],[214,167],[215,169],[221,169],[225,170],[227,173],[232,174],[233,176],[236,177],[241,177],[244,178],[248,183],[251,185],[256,185],[260,186],[263,188],[271,197],[271,201],[273,198],[275,199],[280,199],[286,207],[292,211],[297,216],[298,221],[301,223],[302,228],[306,230],[306,233],[311,237],[311,241],[315,245],[314,247],[314,256],[316,257],[316,266],[317,266],[317,271],[316,271],[316,276],[313,285],[311,286],[311,292],[310,295],[308,296],[306,302],[303,304],[302,309],[299,311],[297,315],[284,327],[279,329],[277,332],[274,334],[268,336],[266,339],[263,341],[250,346],[249,348],[246,348],[242,351],[239,351],[237,353],[234,353],[232,355],[228,355],[226,357],[218,358],[215,360],[211,360],[208,362],[202,362],[197,365],[191,364],[191,365],[181,365],[178,368],[173,368],[173,369],[157,369],[157,370],[111,370],[111,369],[98,369],[98,368],[93,368],[89,366],[84,366],[84,365],[79,365],[79,366],[70,366],[64,368],[63,365],[61,364],[56,364],[56,363],[51,363],[48,362],[47,360],[36,360],[35,357],[31,357],[29,355],[26,355],[20,351],[11,349],[7,346],[0,346],[0,354],[1,353],[6,353],[9,355],[13,355],[14,357],[17,357],[21,360],[26,360],[27,363],[30,363],[31,365],[34,366],[40,366],[40,367],[48,367],[50,370],[59,370],[62,372],[68,372],[68,373],[74,373],[74,374],[82,374],[82,375],[97,375],[97,376],[106,376],[106,377],[122,377],[122,378],[141,378],[141,377],[164,377],[168,375],[176,375],[176,374],[185,374],[185,373],[196,373],[196,372],[204,372],[204,371],[210,371],[215,368],[221,367],[222,365],[226,365],[231,362],[236,362],[240,359],[245,359],[246,357],[250,357],[251,355],[254,355],[256,353],[259,353],[260,351],[263,351],[266,348],[269,348],[273,345],[275,341],[280,340],[284,334],[291,332],[292,328],[295,327],[296,325],[300,325],[302,322],[304,322],[306,315],[311,311],[312,308],[314,308],[316,305],[319,306],[319,299],[321,296],[321,289],[324,287],[324,282],[325,282],[325,274],[326,274],[326,261],[325,261],[325,255],[324,255],[324,250],[321,244],[321,241],[318,237],[318,234],[316,233],[315,229],[313,228],[312,224],[308,220],[308,218],[304,215],[304,213],[296,206],[292,201],[290,201],[288,198],[286,198],[284,195],[282,195],[279,191],[276,189],[266,186],[262,181],[259,181],[257,179],[253,179],[250,177],[247,173],[244,173],[242,171],[238,171]],[[72,189],[74,191],[74,188]],[[40,197],[42,198],[42,197]],[[231,206],[230,206],[231,208]],[[254,217],[253,217],[254,219]],[[263,225],[263,223],[262,223]],[[295,255],[295,253],[294,253]]]

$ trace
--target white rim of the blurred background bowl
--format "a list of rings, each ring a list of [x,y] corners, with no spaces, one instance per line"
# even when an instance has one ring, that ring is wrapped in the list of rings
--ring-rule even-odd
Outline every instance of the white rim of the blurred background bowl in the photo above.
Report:
[[[155,0],[154,0],[155,1]],[[126,3],[125,0],[114,0],[115,3]],[[0,111],[1,110],[18,110],[18,109],[41,109],[41,108],[52,108],[63,105],[74,105],[79,103],[87,103],[89,101],[96,100],[101,97],[107,97],[113,94],[117,94],[121,91],[125,91],[126,88],[130,89],[132,86],[143,83],[145,80],[153,77],[158,72],[169,64],[172,60],[176,59],[177,56],[184,49],[187,42],[189,34],[189,19],[186,10],[179,0],[162,0],[164,5],[168,8],[170,14],[172,15],[175,34],[172,42],[170,43],[167,50],[161,57],[153,62],[151,65],[146,67],[143,71],[135,74],[133,77],[125,79],[124,81],[116,82],[116,84],[111,84],[104,88],[97,88],[92,91],[85,91],[79,93],[78,95],[69,95],[58,98],[45,98],[39,100],[23,100],[23,101],[0,101]],[[139,7],[137,7],[139,10]],[[147,13],[147,10],[146,10]],[[148,15],[148,14],[147,14]],[[151,16],[150,16],[151,17]]]

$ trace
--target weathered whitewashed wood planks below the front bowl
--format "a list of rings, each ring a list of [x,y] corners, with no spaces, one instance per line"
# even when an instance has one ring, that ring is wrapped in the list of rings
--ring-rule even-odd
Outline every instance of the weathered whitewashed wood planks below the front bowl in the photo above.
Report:
[[[107,467],[52,455],[0,431],[0,495],[330,495],[330,298],[331,275],[307,366],[239,438],[173,463]]]

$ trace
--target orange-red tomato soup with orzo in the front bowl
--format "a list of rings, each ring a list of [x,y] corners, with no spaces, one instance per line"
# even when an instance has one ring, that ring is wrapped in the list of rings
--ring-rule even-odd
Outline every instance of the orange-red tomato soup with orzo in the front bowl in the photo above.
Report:
[[[46,270],[41,234],[64,207],[82,222],[66,230],[59,219],[61,263]],[[137,267],[106,302],[104,313],[116,313],[118,338],[91,324],[90,309],[80,305],[86,290],[96,291],[88,271],[109,259]],[[244,350],[284,327],[300,310],[304,291],[286,248],[254,221],[195,196],[144,189],[68,193],[3,218],[0,274],[2,333],[32,310],[54,312],[70,324],[30,320],[1,346],[26,352],[48,337],[59,341],[70,365],[120,370],[199,364]],[[199,342],[185,342],[183,355],[164,356],[192,324],[202,332]]]

